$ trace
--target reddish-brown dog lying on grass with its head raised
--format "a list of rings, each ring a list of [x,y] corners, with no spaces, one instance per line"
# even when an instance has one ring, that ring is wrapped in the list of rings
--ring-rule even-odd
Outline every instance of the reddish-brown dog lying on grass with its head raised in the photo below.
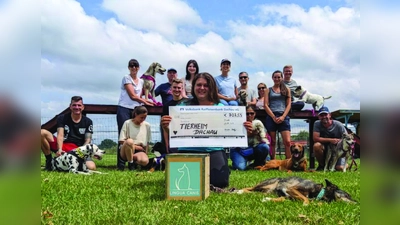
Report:
[[[304,147],[301,144],[293,144],[290,146],[292,158],[285,160],[273,159],[265,163],[264,166],[257,166],[255,169],[260,171],[269,169],[279,169],[280,171],[307,171],[307,160],[304,157]]]

